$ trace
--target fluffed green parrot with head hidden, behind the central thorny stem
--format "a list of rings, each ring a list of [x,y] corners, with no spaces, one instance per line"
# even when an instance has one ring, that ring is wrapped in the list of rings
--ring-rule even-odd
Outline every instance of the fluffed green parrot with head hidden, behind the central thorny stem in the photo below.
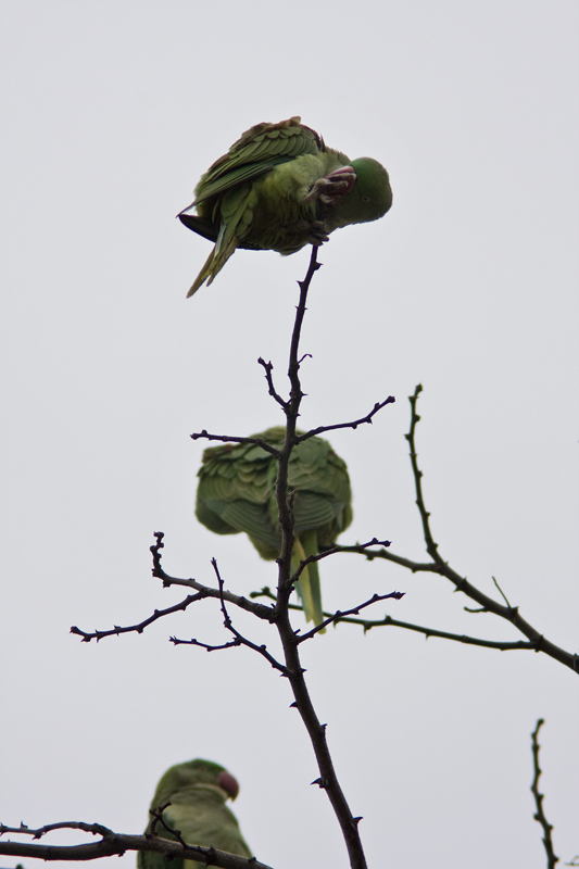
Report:
[[[286,429],[276,426],[251,437],[281,450]],[[253,443],[226,443],[205,450],[202,463],[196,505],[199,521],[216,534],[244,531],[262,558],[278,558],[281,532],[274,456]],[[288,488],[295,492],[291,564],[294,572],[309,555],[332,546],[338,534],[351,524],[352,492],[345,462],[322,438],[309,438],[293,449]],[[320,625],[324,616],[317,562],[305,567],[295,588],[306,621]]]

